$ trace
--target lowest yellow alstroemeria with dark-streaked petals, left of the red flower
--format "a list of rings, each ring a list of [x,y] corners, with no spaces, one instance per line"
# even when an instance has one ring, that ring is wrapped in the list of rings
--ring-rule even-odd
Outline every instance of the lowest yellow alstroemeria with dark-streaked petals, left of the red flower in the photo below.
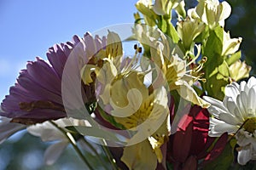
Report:
[[[127,98],[137,101],[137,94],[130,94]],[[137,132],[128,140],[121,160],[129,169],[155,169],[157,162],[163,159],[160,147],[166,142],[170,132],[166,89],[155,89],[153,94],[148,94],[148,97],[143,99],[139,107],[134,104],[130,105],[130,108],[119,109],[113,105],[112,113],[120,115],[114,117],[116,122]]]

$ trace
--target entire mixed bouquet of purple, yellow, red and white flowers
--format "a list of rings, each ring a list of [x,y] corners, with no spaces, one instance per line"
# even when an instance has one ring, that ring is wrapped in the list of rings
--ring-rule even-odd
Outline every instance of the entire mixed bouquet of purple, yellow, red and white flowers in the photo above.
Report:
[[[47,165],[72,145],[87,169],[256,168],[256,78],[224,29],[230,4],[136,8],[134,23],[28,62],[1,104],[0,141],[23,129],[54,141]]]

